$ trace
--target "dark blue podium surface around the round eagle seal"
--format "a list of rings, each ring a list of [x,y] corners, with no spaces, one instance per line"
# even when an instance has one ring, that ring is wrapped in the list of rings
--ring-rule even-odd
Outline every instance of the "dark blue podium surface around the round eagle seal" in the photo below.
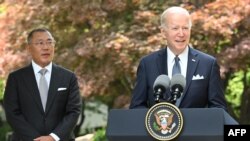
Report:
[[[109,141],[156,141],[148,133],[148,109],[112,109],[106,135]],[[238,124],[220,108],[183,108],[183,129],[175,141],[223,141],[224,125]]]

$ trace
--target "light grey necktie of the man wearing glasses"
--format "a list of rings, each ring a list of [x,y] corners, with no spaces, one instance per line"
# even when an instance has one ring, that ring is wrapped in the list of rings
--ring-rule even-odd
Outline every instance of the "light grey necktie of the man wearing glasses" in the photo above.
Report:
[[[42,100],[43,110],[45,111],[47,97],[48,97],[48,83],[45,79],[45,74],[47,72],[47,69],[41,69],[39,73],[41,74],[40,80],[39,80],[39,92],[40,97]]]

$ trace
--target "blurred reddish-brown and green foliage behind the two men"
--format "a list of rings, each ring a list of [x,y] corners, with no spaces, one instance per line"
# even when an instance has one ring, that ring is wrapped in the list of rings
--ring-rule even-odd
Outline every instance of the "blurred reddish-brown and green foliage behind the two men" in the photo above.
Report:
[[[54,62],[77,74],[84,112],[75,133],[106,141],[108,111],[127,109],[139,59],[163,48],[160,14],[187,8],[191,44],[220,65],[229,114],[250,124],[250,0],[0,0],[0,140],[7,140],[3,93],[8,74],[30,63],[29,31],[56,39]]]

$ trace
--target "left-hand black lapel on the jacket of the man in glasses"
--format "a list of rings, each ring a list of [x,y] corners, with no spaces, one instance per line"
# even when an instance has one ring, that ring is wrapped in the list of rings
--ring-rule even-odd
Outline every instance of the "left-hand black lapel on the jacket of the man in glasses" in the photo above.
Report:
[[[23,80],[24,85],[26,85],[29,90],[27,93],[34,99],[35,103],[39,107],[38,109],[40,109],[41,112],[44,112],[34,70],[31,64],[27,66],[26,72],[23,75]]]

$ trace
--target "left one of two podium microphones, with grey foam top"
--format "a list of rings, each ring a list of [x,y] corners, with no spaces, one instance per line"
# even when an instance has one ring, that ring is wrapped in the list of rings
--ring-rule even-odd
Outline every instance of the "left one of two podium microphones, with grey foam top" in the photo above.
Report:
[[[159,75],[153,85],[155,102],[159,103],[160,98],[163,97],[163,93],[169,88],[170,79],[167,75]]]

